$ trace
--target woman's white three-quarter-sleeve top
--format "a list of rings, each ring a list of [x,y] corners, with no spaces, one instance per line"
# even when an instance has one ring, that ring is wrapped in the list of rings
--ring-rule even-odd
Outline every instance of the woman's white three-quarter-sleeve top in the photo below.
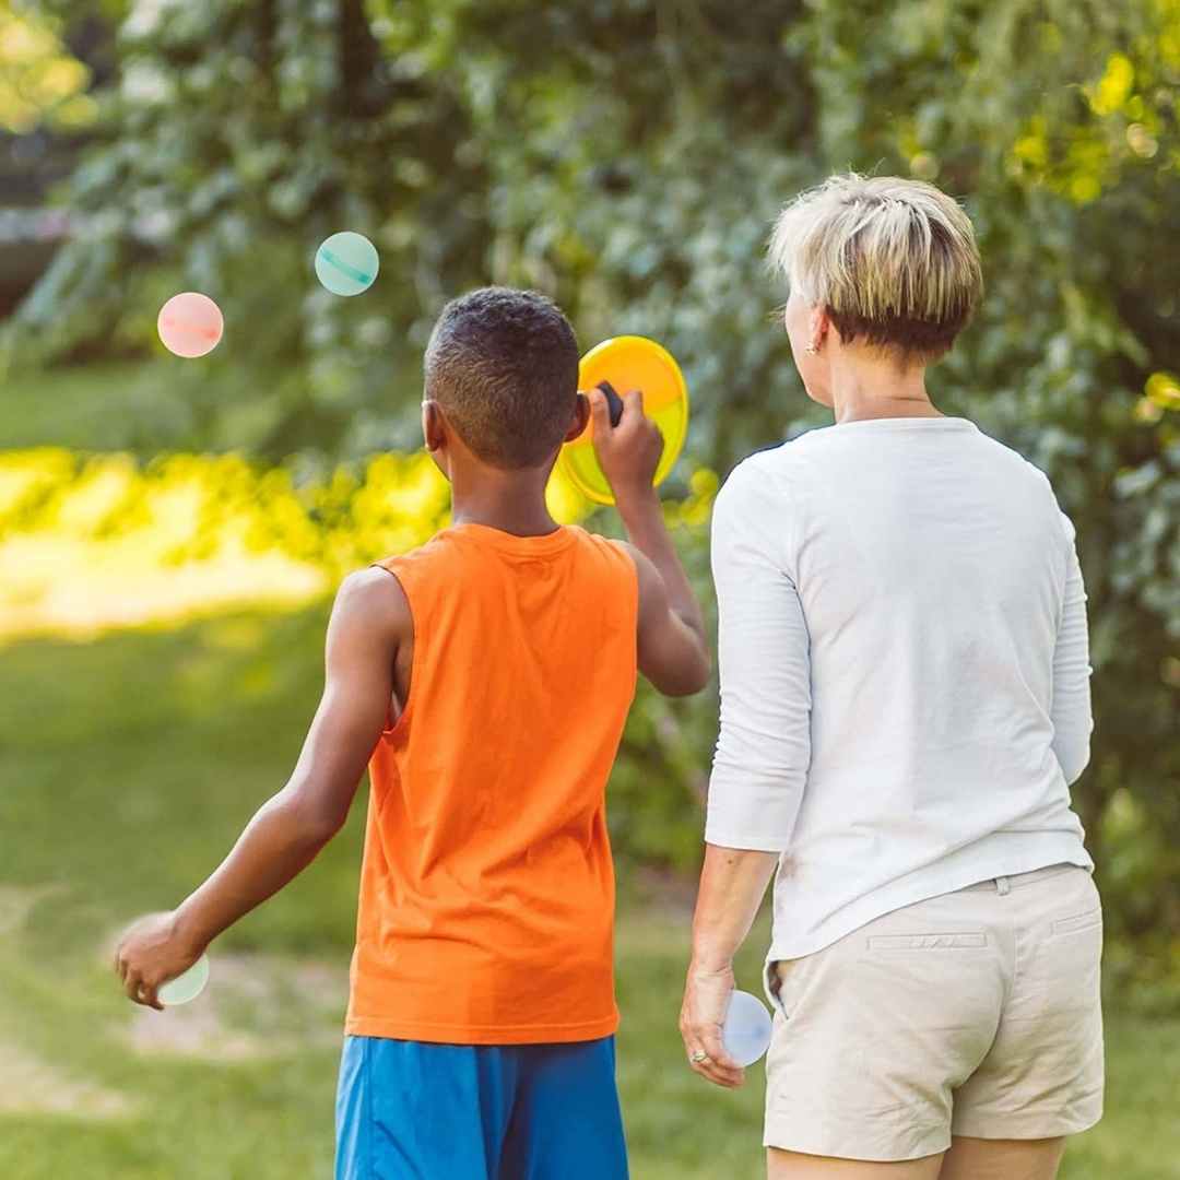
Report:
[[[788,851],[772,958],[985,877],[1093,867],[1068,791],[1086,595],[1038,468],[963,418],[813,430],[734,471],[713,545],[704,838]]]

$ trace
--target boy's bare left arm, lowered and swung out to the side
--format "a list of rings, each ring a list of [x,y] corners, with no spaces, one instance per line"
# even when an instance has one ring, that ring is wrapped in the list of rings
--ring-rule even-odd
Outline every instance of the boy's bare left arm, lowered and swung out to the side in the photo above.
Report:
[[[395,578],[374,568],[345,578],[328,623],[323,695],[290,779],[203,885],[176,910],[146,914],[124,933],[114,969],[131,999],[162,1008],[159,985],[302,872],[341,828],[385,728],[398,645],[411,635]]]

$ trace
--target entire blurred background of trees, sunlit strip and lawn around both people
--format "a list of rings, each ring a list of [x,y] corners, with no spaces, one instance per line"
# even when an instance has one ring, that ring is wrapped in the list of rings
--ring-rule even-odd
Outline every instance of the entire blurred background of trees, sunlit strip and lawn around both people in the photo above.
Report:
[[[1063,1174],[1180,1175],[1178,84],[1178,0],[0,0],[0,1174],[327,1174],[362,807],[190,1009],[120,1002],[104,939],[286,781],[343,573],[446,523],[446,299],[532,286],[583,347],[676,354],[667,513],[712,625],[719,479],[831,420],[769,223],[851,166],[964,201],[988,296],[932,396],[1077,525],[1112,1084]],[[339,229],[380,251],[356,299],[312,271]],[[179,290],[225,315],[199,360],[156,336]],[[610,785],[638,1180],[761,1174],[759,1070],[708,1090],[675,1031],[715,732],[715,684],[642,687]]]

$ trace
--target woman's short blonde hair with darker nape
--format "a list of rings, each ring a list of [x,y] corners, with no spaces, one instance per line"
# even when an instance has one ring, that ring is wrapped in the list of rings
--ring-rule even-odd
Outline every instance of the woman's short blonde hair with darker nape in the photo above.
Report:
[[[779,215],[768,262],[851,342],[937,360],[983,295],[971,221],[924,181],[828,177]]]

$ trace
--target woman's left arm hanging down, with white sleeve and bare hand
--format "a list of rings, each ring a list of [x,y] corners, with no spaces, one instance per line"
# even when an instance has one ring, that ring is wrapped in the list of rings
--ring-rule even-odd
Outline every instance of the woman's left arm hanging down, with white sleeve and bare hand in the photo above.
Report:
[[[721,1025],[733,957],[794,832],[811,761],[811,657],[794,583],[798,505],[762,461],[730,474],[713,512],[721,726],[709,779],[706,856],[693,919],[681,1034],[720,1086],[741,1083]]]

